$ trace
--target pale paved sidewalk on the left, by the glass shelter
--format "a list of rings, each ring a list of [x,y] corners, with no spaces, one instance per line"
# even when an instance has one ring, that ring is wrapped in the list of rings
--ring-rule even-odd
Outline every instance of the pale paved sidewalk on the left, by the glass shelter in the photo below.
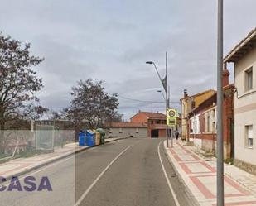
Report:
[[[105,142],[117,141],[123,138],[108,138]],[[71,156],[80,151],[88,149],[90,146],[79,146],[78,142],[70,143],[63,148],[55,148],[53,153],[41,154],[37,156],[32,156],[28,158],[18,158],[15,160],[7,161],[6,163],[0,164],[0,176],[6,178],[7,180],[12,178],[12,176],[23,175],[31,170],[36,170],[44,165],[51,164],[56,160],[63,159],[67,156]]]

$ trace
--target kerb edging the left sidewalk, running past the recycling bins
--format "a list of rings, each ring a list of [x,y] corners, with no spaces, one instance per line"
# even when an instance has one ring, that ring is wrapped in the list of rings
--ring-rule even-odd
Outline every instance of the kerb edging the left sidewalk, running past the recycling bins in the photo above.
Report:
[[[112,141],[118,141],[118,140],[123,140],[123,139],[127,139],[127,138],[128,138],[128,137],[122,137],[122,138],[114,139],[114,140],[105,142],[105,144],[108,144],[109,142],[112,142]],[[94,147],[94,146],[93,146],[93,147]],[[5,179],[6,179],[6,180],[11,180],[13,176],[25,175],[25,174],[27,174],[27,173],[33,171],[33,170],[37,170],[37,169],[39,169],[39,168],[41,168],[41,167],[43,167],[43,166],[50,165],[51,163],[54,163],[54,162],[56,162],[56,161],[58,161],[58,160],[65,159],[66,157],[73,156],[73,155],[75,155],[75,154],[80,153],[81,151],[85,151],[85,150],[88,150],[88,149],[93,148],[93,147],[92,147],[92,146],[89,146],[89,147],[85,147],[85,148],[80,148],[79,150],[72,151],[72,152],[70,152],[70,153],[68,153],[68,154],[65,154],[65,155],[63,155],[63,156],[56,157],[56,159],[54,159],[54,160],[49,160],[49,161],[47,161],[47,162],[44,162],[44,163],[42,163],[41,165],[36,165],[36,166],[33,166],[33,167],[31,167],[31,168],[29,168],[29,169],[27,169],[27,170],[24,170],[24,171],[21,171],[21,172],[17,172],[17,173],[14,174],[14,175],[9,175],[9,176],[5,177]]]

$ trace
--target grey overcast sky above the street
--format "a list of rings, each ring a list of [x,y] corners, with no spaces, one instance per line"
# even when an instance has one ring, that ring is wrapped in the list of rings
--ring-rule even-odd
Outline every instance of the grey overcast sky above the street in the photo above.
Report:
[[[162,101],[165,51],[171,101],[215,89],[217,0],[0,0],[0,31],[31,42],[43,78],[41,103],[69,105],[79,79],[103,79],[106,91],[124,98]],[[255,0],[225,0],[225,54],[256,26]],[[232,71],[231,71],[232,72]],[[233,72],[232,72],[233,74]],[[230,77],[232,81],[233,76]],[[162,103],[119,98],[128,119],[139,109],[163,111]],[[179,107],[179,103],[173,103]]]

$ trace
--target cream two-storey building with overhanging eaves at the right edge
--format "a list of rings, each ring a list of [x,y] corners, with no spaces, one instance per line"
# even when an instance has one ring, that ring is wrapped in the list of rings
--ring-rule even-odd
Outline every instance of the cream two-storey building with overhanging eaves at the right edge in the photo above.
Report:
[[[234,63],[234,164],[256,174],[256,28],[224,61]]]

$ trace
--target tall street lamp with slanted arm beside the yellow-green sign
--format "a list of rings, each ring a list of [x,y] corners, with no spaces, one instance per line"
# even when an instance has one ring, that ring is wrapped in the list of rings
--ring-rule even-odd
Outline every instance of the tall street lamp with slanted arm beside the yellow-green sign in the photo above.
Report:
[[[163,86],[163,89],[165,89],[165,92],[166,92],[166,117],[167,117],[167,109],[168,109],[168,81],[167,81],[167,52],[166,52],[166,76],[164,79],[161,79],[161,76],[158,72],[158,69],[157,69],[157,66],[156,64],[153,62],[153,61],[147,61],[146,64],[149,64],[149,65],[154,65],[154,68],[156,69],[156,72],[157,72],[157,75],[158,75],[158,78],[160,79],[161,83],[162,83],[162,86]],[[167,121],[167,120],[166,120]],[[167,136],[167,147],[169,147],[169,142],[168,142],[168,125],[166,124],[166,136]]]

